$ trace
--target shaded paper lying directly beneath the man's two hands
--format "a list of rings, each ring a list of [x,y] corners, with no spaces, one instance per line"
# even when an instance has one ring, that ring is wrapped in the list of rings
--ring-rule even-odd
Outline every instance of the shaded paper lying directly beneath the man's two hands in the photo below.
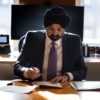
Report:
[[[46,82],[46,81],[43,81],[43,82],[32,82],[33,85],[38,85],[40,87],[53,87],[53,88],[62,88],[62,85],[60,83],[50,83],[50,82]]]

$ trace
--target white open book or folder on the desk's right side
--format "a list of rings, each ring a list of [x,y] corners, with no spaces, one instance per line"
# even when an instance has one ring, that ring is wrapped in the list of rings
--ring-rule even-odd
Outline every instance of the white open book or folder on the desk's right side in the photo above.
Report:
[[[75,90],[100,90],[100,81],[75,81],[69,84]]]

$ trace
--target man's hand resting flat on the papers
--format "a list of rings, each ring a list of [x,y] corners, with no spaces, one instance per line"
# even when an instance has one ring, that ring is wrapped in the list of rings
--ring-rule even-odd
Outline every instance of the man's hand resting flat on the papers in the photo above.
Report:
[[[63,76],[56,76],[55,78],[51,79],[51,83],[64,83],[69,81],[69,76],[68,75],[63,75]]]

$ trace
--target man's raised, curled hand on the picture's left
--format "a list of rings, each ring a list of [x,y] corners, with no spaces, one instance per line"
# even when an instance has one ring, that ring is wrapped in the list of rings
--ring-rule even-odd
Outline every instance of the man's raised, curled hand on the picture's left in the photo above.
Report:
[[[41,75],[41,74],[40,74],[40,71],[39,71],[39,69],[36,68],[36,67],[34,67],[34,68],[29,68],[29,69],[27,70],[27,76],[28,76],[29,79],[34,80],[34,79],[36,79],[36,78],[39,78],[40,75]]]

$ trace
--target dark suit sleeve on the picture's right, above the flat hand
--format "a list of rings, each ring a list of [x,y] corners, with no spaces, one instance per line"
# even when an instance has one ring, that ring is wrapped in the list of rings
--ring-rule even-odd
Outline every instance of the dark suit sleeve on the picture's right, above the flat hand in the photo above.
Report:
[[[77,50],[77,59],[75,60],[75,70],[73,70],[71,73],[73,74],[73,77],[75,81],[80,81],[86,78],[87,74],[87,67],[84,62],[84,57],[82,53],[82,43],[80,38],[77,39],[78,49]]]

